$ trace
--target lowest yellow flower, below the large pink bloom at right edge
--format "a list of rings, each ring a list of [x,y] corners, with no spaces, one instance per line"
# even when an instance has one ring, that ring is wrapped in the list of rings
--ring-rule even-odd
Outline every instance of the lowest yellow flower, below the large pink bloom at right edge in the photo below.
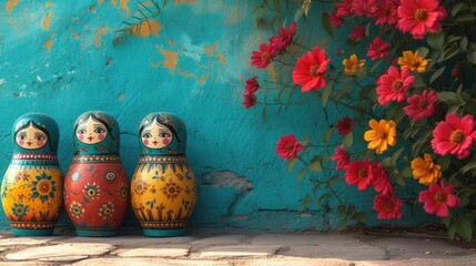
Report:
[[[412,161],[413,176],[421,184],[429,185],[442,177],[442,167],[433,163],[432,155],[425,153],[424,158],[416,157]]]

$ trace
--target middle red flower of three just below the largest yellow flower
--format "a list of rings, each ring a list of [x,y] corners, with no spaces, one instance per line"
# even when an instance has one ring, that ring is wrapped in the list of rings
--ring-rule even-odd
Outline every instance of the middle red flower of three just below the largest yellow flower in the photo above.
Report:
[[[351,162],[345,168],[344,178],[347,184],[357,184],[359,191],[365,191],[372,184],[372,164],[366,158],[363,162]]]

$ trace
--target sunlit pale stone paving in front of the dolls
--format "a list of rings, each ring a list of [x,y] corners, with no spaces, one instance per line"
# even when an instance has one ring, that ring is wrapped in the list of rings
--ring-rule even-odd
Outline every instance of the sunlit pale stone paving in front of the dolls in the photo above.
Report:
[[[0,265],[476,265],[472,244],[363,233],[192,232],[150,238],[13,237],[0,234]]]

